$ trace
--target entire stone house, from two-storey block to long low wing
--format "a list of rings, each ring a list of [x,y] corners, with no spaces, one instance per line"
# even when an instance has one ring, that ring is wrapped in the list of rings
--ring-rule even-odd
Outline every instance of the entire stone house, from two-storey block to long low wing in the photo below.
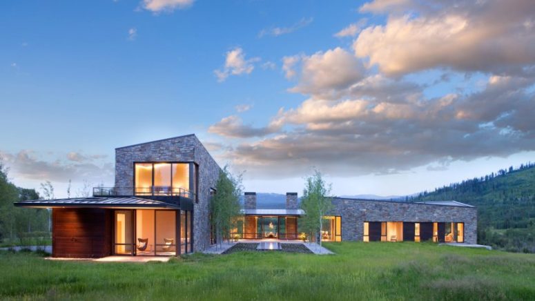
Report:
[[[52,209],[52,256],[181,255],[214,242],[209,202],[221,168],[195,135],[115,149],[115,186],[93,197],[32,200]],[[322,240],[476,243],[476,208],[459,202],[384,202],[335,197]],[[259,208],[245,193],[237,239],[296,240],[304,213],[297,193],[284,208]]]

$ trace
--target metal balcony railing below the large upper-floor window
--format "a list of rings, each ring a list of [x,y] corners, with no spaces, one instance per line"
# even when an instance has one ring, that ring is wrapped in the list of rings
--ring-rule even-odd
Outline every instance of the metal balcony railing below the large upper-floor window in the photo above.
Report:
[[[169,196],[188,197],[195,200],[195,193],[184,188],[171,186],[150,186],[150,187],[93,187],[94,197],[112,196]]]

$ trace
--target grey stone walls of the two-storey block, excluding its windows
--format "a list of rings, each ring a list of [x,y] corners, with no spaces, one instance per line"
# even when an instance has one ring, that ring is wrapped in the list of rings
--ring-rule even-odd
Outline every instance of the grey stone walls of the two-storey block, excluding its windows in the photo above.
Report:
[[[210,189],[221,168],[194,134],[115,149],[115,187],[134,186],[134,162],[193,162],[198,166],[198,202],[193,202],[193,250],[210,245]]]

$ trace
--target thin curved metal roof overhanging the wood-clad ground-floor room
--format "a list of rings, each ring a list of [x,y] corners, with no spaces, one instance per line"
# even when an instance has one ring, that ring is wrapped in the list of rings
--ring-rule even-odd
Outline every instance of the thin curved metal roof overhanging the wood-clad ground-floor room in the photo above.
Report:
[[[176,204],[143,199],[141,197],[75,197],[70,199],[31,200],[14,203],[21,207],[97,207],[97,208],[173,208]]]

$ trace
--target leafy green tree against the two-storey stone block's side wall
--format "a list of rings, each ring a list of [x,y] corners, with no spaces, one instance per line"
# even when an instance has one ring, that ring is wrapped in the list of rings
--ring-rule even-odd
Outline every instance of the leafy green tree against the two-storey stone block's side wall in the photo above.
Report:
[[[215,186],[216,192],[210,200],[212,226],[215,229],[217,243],[230,238],[235,226],[235,217],[240,215],[240,195],[242,195],[242,175],[232,175],[228,165],[220,171]]]

